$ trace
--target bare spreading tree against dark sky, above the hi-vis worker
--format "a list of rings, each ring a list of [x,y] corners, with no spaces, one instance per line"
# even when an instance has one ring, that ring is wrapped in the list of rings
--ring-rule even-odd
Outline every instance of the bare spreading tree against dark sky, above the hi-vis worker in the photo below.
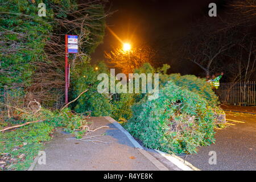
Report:
[[[216,69],[213,65],[218,56],[234,46],[229,37],[230,32],[209,31],[208,24],[199,24],[185,38],[185,59],[198,65],[205,75],[210,75]]]

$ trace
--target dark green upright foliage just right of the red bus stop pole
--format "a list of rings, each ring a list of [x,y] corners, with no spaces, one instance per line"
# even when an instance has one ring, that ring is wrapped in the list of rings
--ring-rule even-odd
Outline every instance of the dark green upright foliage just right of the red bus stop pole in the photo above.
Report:
[[[96,70],[96,67],[98,68]],[[98,65],[91,65],[89,62],[84,61],[73,73],[75,80],[73,83],[72,96],[75,99],[81,92],[88,89],[87,92],[74,102],[73,107],[77,113],[91,113],[92,116],[110,115],[112,105],[110,104],[110,97],[105,93],[98,93],[97,86],[101,82],[97,80],[100,73],[108,73],[106,65],[100,63]]]

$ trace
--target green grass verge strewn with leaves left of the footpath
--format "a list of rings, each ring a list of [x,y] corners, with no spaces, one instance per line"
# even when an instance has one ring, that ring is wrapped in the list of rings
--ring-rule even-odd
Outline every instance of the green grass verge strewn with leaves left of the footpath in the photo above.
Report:
[[[15,125],[22,123],[16,121]],[[53,126],[40,122],[0,133],[0,170],[28,169],[44,142],[52,138],[52,131]]]

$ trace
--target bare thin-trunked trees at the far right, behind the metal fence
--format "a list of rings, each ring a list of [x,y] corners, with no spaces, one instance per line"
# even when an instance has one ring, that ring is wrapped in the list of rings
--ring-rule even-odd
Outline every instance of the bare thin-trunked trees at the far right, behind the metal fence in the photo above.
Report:
[[[232,79],[230,81],[248,82],[255,73],[255,42],[256,35],[254,26],[256,23],[256,1],[237,0],[230,5],[232,17],[225,22],[225,28],[237,31],[233,36],[236,39],[234,46],[226,54],[232,60],[231,67],[228,69]]]

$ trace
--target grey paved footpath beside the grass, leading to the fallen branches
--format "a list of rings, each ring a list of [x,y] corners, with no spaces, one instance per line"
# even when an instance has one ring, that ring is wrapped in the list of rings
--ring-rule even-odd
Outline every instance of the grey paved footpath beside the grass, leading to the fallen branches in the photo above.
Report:
[[[89,140],[106,143],[67,140],[72,135],[57,131],[44,149],[46,165],[36,164],[34,170],[159,170],[113,123],[104,117],[92,117],[88,122],[91,130],[109,126],[85,136],[98,135]]]

